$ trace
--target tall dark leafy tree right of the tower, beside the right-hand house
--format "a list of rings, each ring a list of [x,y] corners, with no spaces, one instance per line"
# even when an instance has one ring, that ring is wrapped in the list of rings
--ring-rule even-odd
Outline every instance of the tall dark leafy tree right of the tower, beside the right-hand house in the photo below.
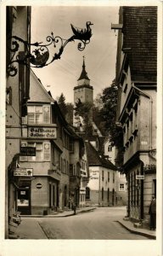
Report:
[[[115,80],[113,80],[110,87],[103,90],[101,99],[103,102],[103,108],[101,108],[100,113],[103,115],[105,129],[110,135],[110,141],[113,146],[118,149],[117,160],[119,165],[121,165],[123,160],[123,132],[121,127],[115,124],[118,102],[118,88],[115,84]]]

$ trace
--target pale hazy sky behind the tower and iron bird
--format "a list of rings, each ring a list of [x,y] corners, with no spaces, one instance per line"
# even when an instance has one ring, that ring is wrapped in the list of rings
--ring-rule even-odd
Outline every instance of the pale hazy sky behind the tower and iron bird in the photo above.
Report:
[[[83,55],[93,98],[115,79],[117,32],[111,30],[111,23],[118,23],[118,11],[117,6],[32,6],[31,43],[46,43],[51,32],[67,39],[73,35],[70,24],[85,28],[87,21],[93,23],[93,36],[83,51],[77,49],[79,41],[70,42],[61,59],[48,67],[33,68],[54,99],[63,93],[65,102],[74,102],[73,88],[82,73]]]

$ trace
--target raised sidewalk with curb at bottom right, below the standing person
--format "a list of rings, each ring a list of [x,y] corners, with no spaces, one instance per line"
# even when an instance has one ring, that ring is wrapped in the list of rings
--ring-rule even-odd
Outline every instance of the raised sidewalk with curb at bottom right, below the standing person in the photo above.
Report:
[[[146,236],[149,239],[156,239],[156,231],[155,230],[147,230],[143,228],[135,228],[133,226],[133,223],[129,220],[118,220],[118,223],[121,224],[126,230],[129,230],[133,234],[141,235],[141,236]]]

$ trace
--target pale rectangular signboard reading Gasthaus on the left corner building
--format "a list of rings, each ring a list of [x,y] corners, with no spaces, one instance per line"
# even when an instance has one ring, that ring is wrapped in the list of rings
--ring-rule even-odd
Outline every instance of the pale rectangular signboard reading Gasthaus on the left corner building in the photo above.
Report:
[[[56,127],[28,127],[28,137],[56,139],[57,129]]]

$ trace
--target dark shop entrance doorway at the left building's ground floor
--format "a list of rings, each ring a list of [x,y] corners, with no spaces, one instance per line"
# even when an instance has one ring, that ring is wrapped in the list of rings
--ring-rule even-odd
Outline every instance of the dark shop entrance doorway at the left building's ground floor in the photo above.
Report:
[[[17,209],[21,215],[31,215],[31,185],[17,190]]]

